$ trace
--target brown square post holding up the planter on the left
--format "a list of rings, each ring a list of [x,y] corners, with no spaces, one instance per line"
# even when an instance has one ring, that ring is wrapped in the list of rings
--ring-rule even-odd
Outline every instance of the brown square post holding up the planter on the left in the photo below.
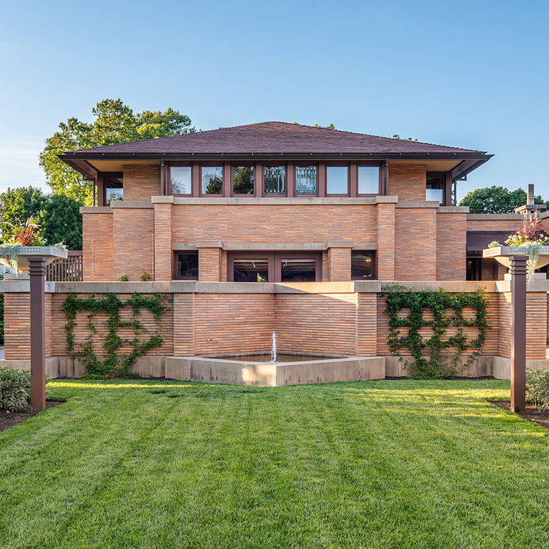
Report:
[[[44,257],[29,257],[30,274],[30,406],[32,412],[46,407],[46,314]]]

